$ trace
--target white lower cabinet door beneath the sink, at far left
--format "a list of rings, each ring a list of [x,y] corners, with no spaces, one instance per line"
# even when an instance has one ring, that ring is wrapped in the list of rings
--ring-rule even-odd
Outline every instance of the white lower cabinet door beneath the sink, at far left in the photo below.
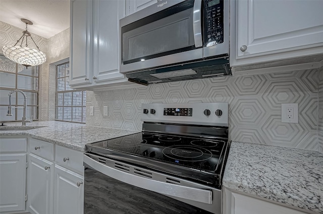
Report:
[[[0,155],[0,212],[25,210],[26,154]]]

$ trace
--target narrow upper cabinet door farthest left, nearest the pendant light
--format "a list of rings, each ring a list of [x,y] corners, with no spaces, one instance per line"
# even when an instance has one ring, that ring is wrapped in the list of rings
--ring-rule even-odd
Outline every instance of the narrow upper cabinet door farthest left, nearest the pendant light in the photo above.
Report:
[[[92,1],[71,1],[70,85],[92,82]]]

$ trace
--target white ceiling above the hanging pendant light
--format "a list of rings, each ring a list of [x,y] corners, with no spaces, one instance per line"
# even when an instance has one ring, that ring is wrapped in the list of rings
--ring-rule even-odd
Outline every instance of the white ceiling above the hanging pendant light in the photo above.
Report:
[[[25,29],[28,19],[32,34],[50,38],[70,27],[70,0],[0,0],[0,21]]]

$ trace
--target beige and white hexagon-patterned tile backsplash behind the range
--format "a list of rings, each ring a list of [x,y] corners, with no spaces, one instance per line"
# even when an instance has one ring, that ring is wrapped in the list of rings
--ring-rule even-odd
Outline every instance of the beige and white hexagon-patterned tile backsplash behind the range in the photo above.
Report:
[[[94,116],[87,113],[86,124],[140,131],[142,103],[228,102],[230,139],[318,151],[318,130],[323,133],[322,119],[320,128],[317,119],[318,73],[311,69],[88,91],[87,109],[95,110]],[[298,103],[299,123],[281,122],[282,103]],[[103,106],[109,116],[103,116]]]

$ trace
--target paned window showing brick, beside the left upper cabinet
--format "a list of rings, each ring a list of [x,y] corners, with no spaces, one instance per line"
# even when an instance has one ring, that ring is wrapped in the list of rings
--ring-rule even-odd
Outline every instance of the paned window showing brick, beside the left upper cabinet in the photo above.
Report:
[[[70,63],[56,66],[56,104],[55,119],[68,122],[85,123],[86,91],[71,89],[69,82]]]

